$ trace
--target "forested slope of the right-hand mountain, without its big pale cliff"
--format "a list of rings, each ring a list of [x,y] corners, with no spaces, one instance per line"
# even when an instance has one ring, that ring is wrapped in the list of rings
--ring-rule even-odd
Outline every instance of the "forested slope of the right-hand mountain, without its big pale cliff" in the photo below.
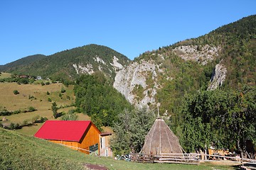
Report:
[[[212,49],[217,50],[213,59],[207,60],[207,55]],[[197,60],[183,60],[183,55],[188,58],[196,55],[201,57]],[[152,52],[145,52],[134,61],[141,60],[154,60],[164,70],[157,77],[161,88],[157,91],[156,101],[161,103],[161,113],[166,110],[171,114],[177,113],[177,106],[184,95],[206,90],[215,65],[219,63],[227,69],[221,89],[255,86],[256,15],[222,26],[199,38],[183,40],[174,45],[159,47]],[[207,64],[202,64],[204,61],[207,61]],[[170,77],[172,79],[169,79]]]

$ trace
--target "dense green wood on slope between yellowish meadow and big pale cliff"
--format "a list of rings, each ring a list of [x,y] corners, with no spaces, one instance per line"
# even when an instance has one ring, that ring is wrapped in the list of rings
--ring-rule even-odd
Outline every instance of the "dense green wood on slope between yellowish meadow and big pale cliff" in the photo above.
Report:
[[[91,116],[97,128],[112,126],[124,108],[132,108],[102,73],[82,75],[76,81],[75,105]]]

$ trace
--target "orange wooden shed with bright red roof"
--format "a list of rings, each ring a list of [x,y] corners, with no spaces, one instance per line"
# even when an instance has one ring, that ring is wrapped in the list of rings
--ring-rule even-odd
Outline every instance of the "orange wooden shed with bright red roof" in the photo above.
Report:
[[[100,154],[100,134],[100,130],[91,121],[47,120],[35,137],[68,145],[86,154]]]

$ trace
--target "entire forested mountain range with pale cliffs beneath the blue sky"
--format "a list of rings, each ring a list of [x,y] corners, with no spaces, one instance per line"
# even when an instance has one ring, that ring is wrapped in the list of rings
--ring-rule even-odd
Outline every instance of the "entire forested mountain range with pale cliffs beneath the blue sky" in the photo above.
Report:
[[[206,35],[144,52],[134,61],[102,45],[57,52],[28,64],[1,69],[50,79],[75,79],[102,72],[137,106],[175,114],[181,99],[200,90],[255,86],[256,15],[221,26]]]

